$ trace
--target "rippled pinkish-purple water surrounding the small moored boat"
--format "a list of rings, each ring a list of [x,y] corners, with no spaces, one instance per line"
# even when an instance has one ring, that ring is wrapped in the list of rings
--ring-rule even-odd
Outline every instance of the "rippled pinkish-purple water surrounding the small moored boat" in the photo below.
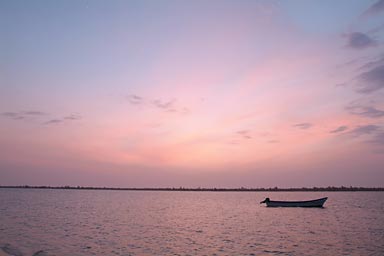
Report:
[[[323,209],[259,204],[323,196]],[[384,255],[384,193],[0,189],[0,246],[57,256]]]

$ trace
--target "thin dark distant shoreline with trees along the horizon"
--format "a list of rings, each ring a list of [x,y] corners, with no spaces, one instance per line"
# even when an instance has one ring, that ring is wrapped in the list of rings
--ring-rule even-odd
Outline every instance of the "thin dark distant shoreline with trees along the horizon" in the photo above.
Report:
[[[0,188],[18,189],[62,189],[62,190],[125,190],[125,191],[197,191],[197,192],[343,192],[343,191],[384,191],[384,187],[302,187],[302,188],[115,188],[85,186],[0,186]]]

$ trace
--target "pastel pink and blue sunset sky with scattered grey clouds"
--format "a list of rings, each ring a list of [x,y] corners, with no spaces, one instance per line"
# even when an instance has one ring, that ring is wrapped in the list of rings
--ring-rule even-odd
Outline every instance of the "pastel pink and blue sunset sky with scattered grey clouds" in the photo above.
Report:
[[[383,0],[0,0],[0,185],[383,187],[383,88]]]

